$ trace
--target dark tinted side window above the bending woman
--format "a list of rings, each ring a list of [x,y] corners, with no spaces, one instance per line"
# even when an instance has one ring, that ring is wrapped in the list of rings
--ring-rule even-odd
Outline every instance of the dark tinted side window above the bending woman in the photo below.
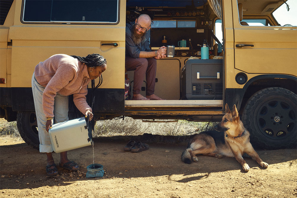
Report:
[[[23,22],[118,23],[119,0],[25,0]]]

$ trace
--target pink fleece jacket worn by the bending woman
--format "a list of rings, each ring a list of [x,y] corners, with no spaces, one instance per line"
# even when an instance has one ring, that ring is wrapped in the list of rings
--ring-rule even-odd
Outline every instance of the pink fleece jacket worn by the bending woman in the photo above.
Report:
[[[45,117],[54,117],[54,97],[73,94],[73,102],[81,113],[91,107],[86,102],[87,87],[91,81],[88,68],[76,58],[66,54],[56,54],[40,62],[35,67],[35,78],[44,86],[42,106]]]

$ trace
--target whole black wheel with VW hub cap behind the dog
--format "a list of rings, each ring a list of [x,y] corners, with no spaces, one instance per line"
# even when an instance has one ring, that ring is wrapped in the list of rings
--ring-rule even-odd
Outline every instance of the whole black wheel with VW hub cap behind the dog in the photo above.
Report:
[[[280,87],[252,95],[242,115],[251,143],[264,149],[295,148],[296,101],[296,94]]]

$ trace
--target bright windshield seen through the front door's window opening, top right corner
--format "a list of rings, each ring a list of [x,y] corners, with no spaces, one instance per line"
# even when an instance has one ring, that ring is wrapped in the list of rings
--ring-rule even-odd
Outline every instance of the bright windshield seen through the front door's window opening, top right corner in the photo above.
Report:
[[[281,26],[297,26],[297,1],[288,0],[286,3],[290,7],[289,11],[287,11],[287,5],[284,3],[272,15]]]

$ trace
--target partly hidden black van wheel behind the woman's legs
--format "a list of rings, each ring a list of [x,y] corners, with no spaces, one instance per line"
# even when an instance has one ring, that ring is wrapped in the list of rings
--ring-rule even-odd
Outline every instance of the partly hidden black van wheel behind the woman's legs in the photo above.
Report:
[[[39,150],[39,137],[35,112],[18,111],[17,126],[23,140],[29,146]]]

